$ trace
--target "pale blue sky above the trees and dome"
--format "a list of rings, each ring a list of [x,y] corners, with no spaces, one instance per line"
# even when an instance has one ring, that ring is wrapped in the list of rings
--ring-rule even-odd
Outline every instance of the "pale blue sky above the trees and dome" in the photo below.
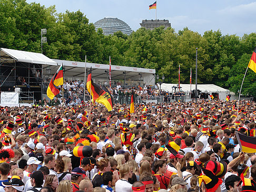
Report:
[[[117,17],[126,22],[133,31],[140,28],[142,19],[155,19],[155,9],[149,5],[155,0],[27,0],[45,7],[56,6],[57,13],[80,10],[90,23],[106,17]],[[250,34],[255,32],[256,2],[252,0],[159,0],[157,18],[169,19],[178,32],[184,27],[203,34],[208,30],[220,29],[223,35]]]

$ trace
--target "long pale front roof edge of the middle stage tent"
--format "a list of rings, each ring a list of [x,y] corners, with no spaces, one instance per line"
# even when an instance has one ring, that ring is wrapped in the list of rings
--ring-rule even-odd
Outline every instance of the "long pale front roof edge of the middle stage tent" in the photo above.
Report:
[[[61,65],[63,63],[63,65],[67,66],[67,67],[82,67],[82,68],[85,67],[85,62],[74,62],[72,60],[60,60],[60,59],[53,59],[53,60],[58,65]],[[99,69],[109,69],[109,65],[106,65],[106,64],[86,63],[86,68],[90,68],[90,67],[92,67],[93,69],[98,69],[98,68]],[[155,74],[155,69],[127,67],[127,66],[120,66],[120,65],[111,65],[111,70]]]

